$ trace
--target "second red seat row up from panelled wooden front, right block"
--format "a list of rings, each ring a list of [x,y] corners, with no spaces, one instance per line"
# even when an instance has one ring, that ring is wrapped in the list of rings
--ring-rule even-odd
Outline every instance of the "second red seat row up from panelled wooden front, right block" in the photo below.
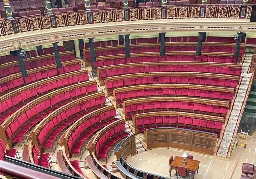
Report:
[[[229,102],[189,97],[151,97],[124,101],[123,114],[132,118],[134,114],[149,111],[183,111],[213,116],[226,116]]]

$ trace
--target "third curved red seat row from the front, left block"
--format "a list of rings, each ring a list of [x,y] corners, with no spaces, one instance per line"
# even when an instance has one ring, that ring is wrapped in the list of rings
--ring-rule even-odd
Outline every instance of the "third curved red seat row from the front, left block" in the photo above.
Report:
[[[47,115],[32,130],[29,138],[33,139],[33,135],[37,136],[37,142],[42,146],[43,150],[49,149],[52,147],[52,144],[59,133],[66,127],[77,121],[80,117],[106,106],[105,103],[105,94],[104,92],[101,92],[81,97],[63,105]]]

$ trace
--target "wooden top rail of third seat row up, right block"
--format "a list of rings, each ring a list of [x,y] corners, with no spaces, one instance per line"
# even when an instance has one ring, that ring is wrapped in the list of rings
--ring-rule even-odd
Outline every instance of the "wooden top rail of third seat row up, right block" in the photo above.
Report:
[[[116,88],[113,91],[113,101],[117,102],[117,94],[122,92],[130,92],[132,93],[132,99],[136,98],[143,98],[144,96],[135,96],[133,95],[133,92],[135,90],[146,90],[146,89],[164,89],[164,88],[173,88],[173,89],[194,89],[194,90],[206,90],[206,91],[218,91],[218,92],[227,92],[227,93],[233,93],[235,92],[234,88],[225,88],[225,87],[216,87],[216,86],[203,86],[203,85],[190,85],[190,84],[152,84],[152,85],[137,85],[131,87],[123,87],[123,88]],[[156,95],[158,96],[158,95]],[[165,95],[159,95],[159,97],[162,97]],[[172,95],[168,95],[172,96]],[[207,97],[206,97],[207,98]],[[213,96],[214,99],[214,96]],[[129,100],[129,99],[121,99],[122,101]]]

